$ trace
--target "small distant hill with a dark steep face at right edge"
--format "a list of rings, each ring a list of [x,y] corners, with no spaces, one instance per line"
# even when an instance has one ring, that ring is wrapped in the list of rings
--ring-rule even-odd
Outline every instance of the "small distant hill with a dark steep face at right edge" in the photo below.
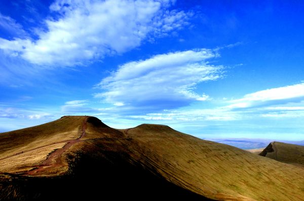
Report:
[[[259,155],[304,167],[304,146],[272,142]]]

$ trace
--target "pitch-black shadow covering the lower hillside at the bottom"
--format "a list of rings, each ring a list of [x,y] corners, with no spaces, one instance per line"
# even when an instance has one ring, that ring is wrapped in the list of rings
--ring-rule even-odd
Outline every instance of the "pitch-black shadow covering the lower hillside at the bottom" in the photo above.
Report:
[[[0,180],[0,200],[210,200],[145,170],[125,152],[96,148],[69,158],[66,176]]]

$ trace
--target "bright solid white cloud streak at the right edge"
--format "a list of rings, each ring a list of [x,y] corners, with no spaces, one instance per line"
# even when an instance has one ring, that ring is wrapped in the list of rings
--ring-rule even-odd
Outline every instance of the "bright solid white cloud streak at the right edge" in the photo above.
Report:
[[[272,88],[246,94],[243,98],[230,101],[228,108],[252,108],[296,103],[304,100],[304,83]]]

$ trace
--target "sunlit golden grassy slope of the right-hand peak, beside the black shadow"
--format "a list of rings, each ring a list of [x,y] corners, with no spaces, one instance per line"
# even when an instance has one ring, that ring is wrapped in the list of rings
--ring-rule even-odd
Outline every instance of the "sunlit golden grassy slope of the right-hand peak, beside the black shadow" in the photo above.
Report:
[[[163,125],[125,130],[139,158],[169,181],[216,199],[303,200],[304,171]]]

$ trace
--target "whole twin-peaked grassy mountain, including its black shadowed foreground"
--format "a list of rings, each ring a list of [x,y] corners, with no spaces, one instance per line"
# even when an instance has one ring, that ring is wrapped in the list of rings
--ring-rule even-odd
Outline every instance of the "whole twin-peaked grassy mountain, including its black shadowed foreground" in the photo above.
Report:
[[[304,169],[169,126],[64,116],[0,134],[0,200],[302,200]]]

